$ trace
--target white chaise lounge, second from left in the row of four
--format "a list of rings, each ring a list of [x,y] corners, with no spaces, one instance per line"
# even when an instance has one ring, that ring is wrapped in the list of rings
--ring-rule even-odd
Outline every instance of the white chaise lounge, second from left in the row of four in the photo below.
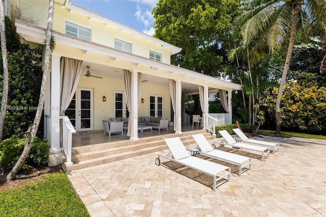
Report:
[[[233,154],[226,151],[215,150],[207,141],[202,133],[192,135],[195,142],[197,143],[200,151],[199,154],[202,154],[207,157],[219,159],[222,161],[229,162],[230,164],[235,164],[239,166],[239,176],[241,176],[242,168],[249,166],[251,169],[251,158],[242,156],[239,154]]]

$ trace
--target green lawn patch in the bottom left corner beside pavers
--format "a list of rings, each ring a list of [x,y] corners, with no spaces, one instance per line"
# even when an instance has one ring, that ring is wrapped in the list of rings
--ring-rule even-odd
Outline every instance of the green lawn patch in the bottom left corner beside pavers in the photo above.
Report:
[[[0,216],[90,216],[64,172],[0,192]]]

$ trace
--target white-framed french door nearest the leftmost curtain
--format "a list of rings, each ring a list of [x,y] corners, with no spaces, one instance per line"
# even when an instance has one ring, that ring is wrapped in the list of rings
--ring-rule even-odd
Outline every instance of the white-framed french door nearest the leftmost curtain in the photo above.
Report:
[[[76,131],[93,130],[94,102],[92,88],[77,88],[65,114]]]

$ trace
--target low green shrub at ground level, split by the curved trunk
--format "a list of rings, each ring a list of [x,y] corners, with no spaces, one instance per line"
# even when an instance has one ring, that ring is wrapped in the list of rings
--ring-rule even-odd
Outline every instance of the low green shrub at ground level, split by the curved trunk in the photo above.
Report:
[[[27,142],[26,138],[13,136],[0,143],[0,173],[11,170],[21,155]],[[35,138],[30,153],[21,169],[34,165],[46,165],[48,161],[48,145],[39,138]]]

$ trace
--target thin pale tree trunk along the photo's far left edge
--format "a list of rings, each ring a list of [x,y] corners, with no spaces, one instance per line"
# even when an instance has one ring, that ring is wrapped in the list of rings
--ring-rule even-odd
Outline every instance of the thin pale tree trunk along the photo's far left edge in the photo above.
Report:
[[[1,34],[1,52],[2,61],[4,68],[4,84],[1,99],[1,110],[0,110],[0,142],[3,139],[3,132],[5,127],[5,118],[7,111],[8,102],[8,86],[9,86],[9,72],[8,72],[8,57],[7,57],[7,46],[6,46],[6,26],[5,26],[5,9],[4,2],[0,0],[0,34]]]

